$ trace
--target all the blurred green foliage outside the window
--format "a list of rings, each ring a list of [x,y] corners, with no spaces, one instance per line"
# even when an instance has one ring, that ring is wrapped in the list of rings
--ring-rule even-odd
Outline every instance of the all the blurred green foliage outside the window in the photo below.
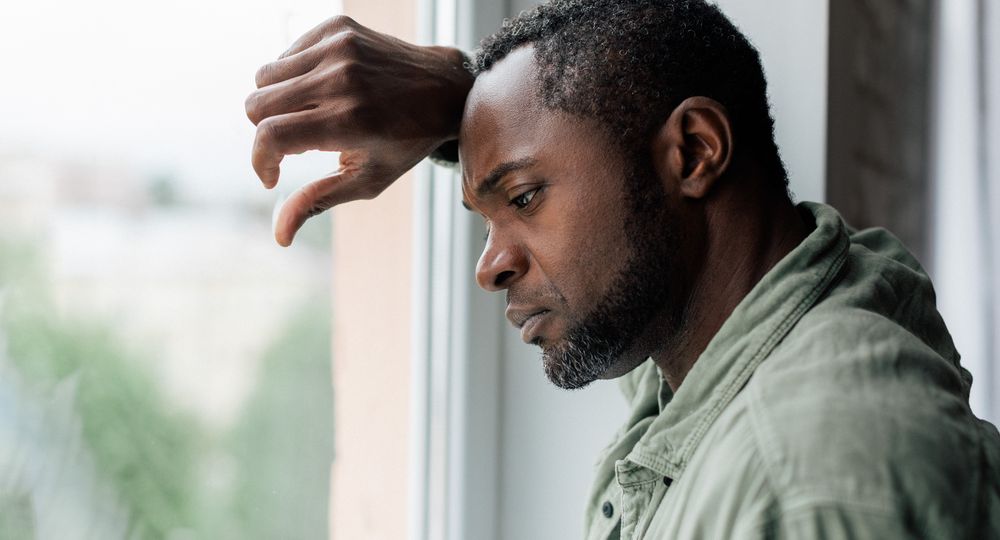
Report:
[[[15,465],[45,473],[28,493],[4,492],[4,478],[22,471],[3,470],[10,452],[0,447],[0,538],[32,530],[30,490],[69,491],[56,471],[81,461],[96,472],[83,476],[92,485],[73,489],[108,500],[77,510],[124,508],[124,518],[117,511],[91,518],[106,521],[91,530],[117,530],[124,519],[127,531],[112,538],[326,536],[333,452],[327,294],[315,294],[290,318],[267,349],[232,432],[213,434],[169,407],[144,367],[150,362],[140,361],[148,351],[127,350],[100,321],[57,317],[43,268],[30,244],[0,241],[0,368],[16,373],[0,369],[0,404],[15,405],[0,411],[0,442],[4,428],[17,434],[25,424],[62,434],[15,449],[36,461]],[[12,386],[14,379],[25,382]],[[41,413],[18,403],[29,394],[41,396]],[[50,403],[52,395],[63,399]],[[220,475],[222,487],[211,481]]]

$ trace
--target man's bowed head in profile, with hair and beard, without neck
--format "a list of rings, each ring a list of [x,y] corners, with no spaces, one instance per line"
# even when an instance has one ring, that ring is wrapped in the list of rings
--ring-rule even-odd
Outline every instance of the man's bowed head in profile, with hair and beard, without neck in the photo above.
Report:
[[[683,330],[730,164],[784,193],[757,53],[704,2],[569,0],[506,23],[475,68],[461,161],[490,229],[477,279],[507,290],[555,384],[625,373]]]

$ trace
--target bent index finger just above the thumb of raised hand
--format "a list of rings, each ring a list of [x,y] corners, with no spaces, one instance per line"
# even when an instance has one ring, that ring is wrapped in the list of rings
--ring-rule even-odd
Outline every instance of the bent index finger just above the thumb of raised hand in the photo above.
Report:
[[[307,150],[335,150],[349,133],[321,109],[270,116],[257,124],[250,161],[268,189],[278,183],[281,160]]]

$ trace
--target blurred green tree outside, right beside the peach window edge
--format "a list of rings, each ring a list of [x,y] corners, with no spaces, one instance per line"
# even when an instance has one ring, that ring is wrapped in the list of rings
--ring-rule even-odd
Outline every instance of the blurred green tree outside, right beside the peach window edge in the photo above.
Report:
[[[232,538],[327,535],[333,393],[326,298],[313,297],[269,348],[229,441],[237,463]]]

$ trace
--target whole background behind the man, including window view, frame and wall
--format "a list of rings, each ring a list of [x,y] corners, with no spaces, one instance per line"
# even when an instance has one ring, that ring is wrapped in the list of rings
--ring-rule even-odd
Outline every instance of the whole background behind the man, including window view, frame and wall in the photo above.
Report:
[[[906,242],[1000,420],[996,2],[718,3],[761,51],[796,199]],[[336,155],[266,191],[243,109],[333,14],[472,50],[532,5],[5,5],[0,539],[580,536],[625,404],[544,380],[472,279],[454,173],[421,164],[282,249],[275,206]]]

